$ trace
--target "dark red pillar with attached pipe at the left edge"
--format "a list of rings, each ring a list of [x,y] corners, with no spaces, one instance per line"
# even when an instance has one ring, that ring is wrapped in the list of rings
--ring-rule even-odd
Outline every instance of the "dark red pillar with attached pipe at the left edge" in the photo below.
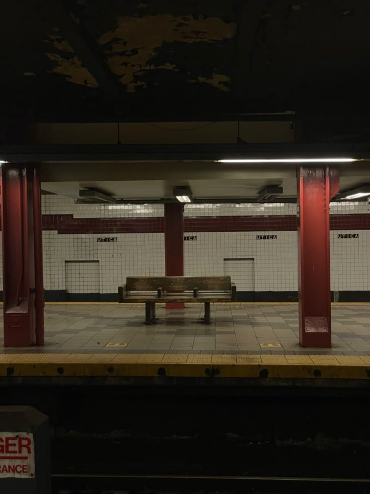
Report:
[[[5,346],[43,344],[43,334],[38,334],[36,338],[35,311],[35,294],[37,292],[40,298],[40,283],[42,287],[39,250],[42,245],[40,241],[41,218],[39,217],[41,208],[37,204],[34,208],[35,183],[38,187],[40,186],[38,171],[35,171],[34,165],[3,164],[0,176],[4,344]],[[40,189],[36,191],[36,197],[38,194],[40,194]],[[35,228],[38,229],[36,242]],[[35,253],[37,255],[36,264],[38,264],[37,279],[35,277]],[[35,281],[37,281],[37,286]],[[39,322],[41,320],[40,307],[39,301]]]

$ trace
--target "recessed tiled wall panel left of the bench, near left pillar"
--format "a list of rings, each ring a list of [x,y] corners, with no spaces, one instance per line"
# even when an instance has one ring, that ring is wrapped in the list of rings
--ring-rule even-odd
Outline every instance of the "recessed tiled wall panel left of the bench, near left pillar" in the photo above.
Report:
[[[68,299],[99,300],[99,271],[99,261],[65,261],[65,290],[69,294]]]

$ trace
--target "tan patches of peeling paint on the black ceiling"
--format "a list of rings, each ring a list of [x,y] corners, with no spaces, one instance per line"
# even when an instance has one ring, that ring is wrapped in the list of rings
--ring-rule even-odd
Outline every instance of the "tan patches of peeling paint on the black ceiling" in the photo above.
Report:
[[[104,49],[109,68],[120,77],[126,91],[135,92],[139,87],[147,87],[146,82],[140,79],[147,70],[179,71],[170,60],[158,62],[160,48],[165,43],[216,44],[235,36],[236,29],[235,23],[225,22],[218,17],[200,16],[195,19],[190,15],[176,17],[171,14],[119,17],[116,29],[100,36],[98,43]],[[73,48],[60,36],[50,35],[45,41],[58,51],[73,53]],[[76,56],[67,57],[57,53],[46,53],[46,56],[55,62],[50,72],[67,76],[67,80],[74,84],[98,86],[96,79]],[[221,91],[229,91],[230,77],[218,74],[215,68],[211,73],[212,77],[202,74],[196,80],[193,74],[188,82],[205,83]]]

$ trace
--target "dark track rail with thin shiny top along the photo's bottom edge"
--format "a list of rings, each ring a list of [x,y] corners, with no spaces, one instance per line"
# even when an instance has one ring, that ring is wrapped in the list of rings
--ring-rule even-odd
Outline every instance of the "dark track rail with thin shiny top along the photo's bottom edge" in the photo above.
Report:
[[[183,476],[183,475],[52,475],[53,494],[129,492],[244,492],[261,494],[370,493],[370,478]]]

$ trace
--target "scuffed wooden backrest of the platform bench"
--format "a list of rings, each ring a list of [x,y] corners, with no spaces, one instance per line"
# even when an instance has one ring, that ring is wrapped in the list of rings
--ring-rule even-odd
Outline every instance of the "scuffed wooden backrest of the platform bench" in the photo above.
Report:
[[[128,276],[128,292],[150,292],[162,288],[164,291],[213,290],[225,292],[231,290],[230,276]]]

